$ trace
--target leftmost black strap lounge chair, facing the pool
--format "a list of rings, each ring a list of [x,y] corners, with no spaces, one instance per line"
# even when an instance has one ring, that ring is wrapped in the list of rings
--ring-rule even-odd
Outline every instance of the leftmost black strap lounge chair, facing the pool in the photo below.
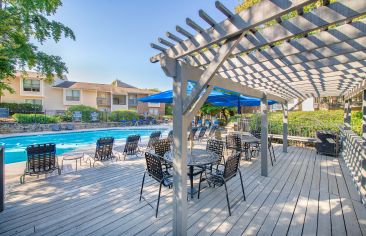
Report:
[[[24,174],[20,177],[20,183],[25,183],[25,176],[33,176],[40,174],[51,173],[55,170],[58,174],[61,174],[61,169],[58,165],[58,159],[56,157],[56,144],[34,144],[29,145],[27,151],[27,163],[24,170]]]

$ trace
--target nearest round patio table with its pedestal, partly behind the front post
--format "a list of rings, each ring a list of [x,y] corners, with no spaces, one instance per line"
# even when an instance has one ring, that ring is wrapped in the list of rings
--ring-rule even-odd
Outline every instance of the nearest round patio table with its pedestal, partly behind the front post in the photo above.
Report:
[[[163,158],[165,161],[173,163],[173,152],[166,152]],[[193,149],[192,152],[187,151],[187,166],[189,168],[188,176],[191,185],[188,194],[191,195],[191,198],[193,198],[193,195],[197,192],[193,187],[193,177],[201,174],[206,165],[217,163],[218,160],[219,156],[214,152],[200,149]],[[195,173],[194,167],[202,168],[202,170]]]

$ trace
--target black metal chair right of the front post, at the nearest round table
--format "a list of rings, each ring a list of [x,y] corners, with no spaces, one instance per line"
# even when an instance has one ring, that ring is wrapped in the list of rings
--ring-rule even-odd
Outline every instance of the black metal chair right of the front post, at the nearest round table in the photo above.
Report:
[[[234,178],[238,173],[240,177],[240,183],[241,183],[241,189],[243,191],[243,197],[244,201],[245,198],[245,192],[244,192],[244,184],[243,184],[243,178],[241,176],[241,172],[239,169],[239,162],[240,162],[240,153],[235,153],[234,155],[230,156],[225,163],[224,172],[212,172],[212,173],[206,173],[206,177],[202,178],[202,174],[200,175],[200,181],[198,185],[198,198],[200,198],[200,191],[201,191],[201,183],[202,181],[207,181],[209,186],[213,187],[221,187],[222,185],[225,186],[225,192],[226,192],[226,201],[227,201],[227,207],[229,209],[229,215],[231,216],[231,208],[230,208],[230,201],[229,201],[229,195],[227,191],[226,183]]]

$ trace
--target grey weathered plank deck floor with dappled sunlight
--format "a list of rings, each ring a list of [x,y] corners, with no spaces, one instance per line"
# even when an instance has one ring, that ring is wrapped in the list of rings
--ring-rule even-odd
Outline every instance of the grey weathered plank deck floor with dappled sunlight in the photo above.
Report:
[[[188,235],[366,235],[366,210],[342,160],[309,148],[276,147],[269,177],[260,163],[242,161],[229,182],[232,216],[223,189],[205,188],[189,200]],[[138,201],[144,160],[129,160],[17,186],[0,213],[4,235],[164,235],[172,230],[171,190],[163,189],[159,217]],[[151,180],[144,196],[156,203]]]

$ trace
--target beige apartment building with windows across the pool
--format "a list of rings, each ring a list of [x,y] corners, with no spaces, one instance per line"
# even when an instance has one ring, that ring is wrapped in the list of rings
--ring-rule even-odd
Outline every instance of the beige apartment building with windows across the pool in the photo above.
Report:
[[[4,92],[1,102],[40,104],[43,109],[64,111],[72,105],[86,105],[101,111],[136,110],[139,114],[164,115],[165,105],[141,103],[139,98],[153,94],[115,80],[111,84],[69,81],[66,77],[49,82],[44,76],[28,72],[9,79],[14,93]]]

